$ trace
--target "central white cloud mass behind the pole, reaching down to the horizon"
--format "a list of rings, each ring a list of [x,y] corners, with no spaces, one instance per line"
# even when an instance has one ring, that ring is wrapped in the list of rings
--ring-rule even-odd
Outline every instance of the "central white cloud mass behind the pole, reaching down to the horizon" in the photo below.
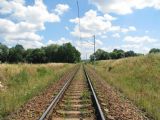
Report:
[[[107,33],[112,33],[115,38],[120,38],[120,33],[128,33],[136,31],[134,26],[122,28],[120,26],[112,25],[112,20],[116,18],[109,14],[99,15],[95,10],[87,11],[83,17],[80,18],[80,32],[79,19],[70,19],[75,26],[71,34],[75,37],[81,36],[81,42],[77,41],[75,46],[85,56],[86,52],[93,53],[93,35],[96,35],[96,48],[102,48],[104,44],[101,39],[107,38]]]

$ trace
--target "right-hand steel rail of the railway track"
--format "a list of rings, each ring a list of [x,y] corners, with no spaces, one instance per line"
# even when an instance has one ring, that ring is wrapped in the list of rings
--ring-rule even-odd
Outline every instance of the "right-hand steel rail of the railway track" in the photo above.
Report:
[[[99,103],[99,101],[98,101],[98,99],[97,99],[97,96],[96,96],[95,90],[94,90],[94,88],[93,88],[92,82],[91,82],[91,80],[90,80],[90,78],[89,78],[89,75],[88,75],[88,73],[86,72],[84,66],[83,66],[83,69],[84,69],[84,72],[85,72],[87,81],[88,81],[88,83],[89,83],[89,87],[90,87],[90,89],[91,89],[91,91],[92,91],[92,93],[93,93],[93,97],[94,97],[94,100],[95,100],[95,103],[96,103],[96,107],[97,107],[97,109],[98,109],[98,114],[99,114],[99,116],[100,116],[100,119],[101,119],[101,120],[105,120],[104,113],[103,113],[102,108],[101,108],[101,106],[100,106],[100,103]]]

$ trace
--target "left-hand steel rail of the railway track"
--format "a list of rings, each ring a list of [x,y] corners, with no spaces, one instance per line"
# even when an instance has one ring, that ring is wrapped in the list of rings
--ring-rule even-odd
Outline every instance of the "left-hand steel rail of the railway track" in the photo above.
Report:
[[[49,114],[49,112],[51,111],[51,109],[55,108],[55,106],[57,105],[57,103],[59,102],[59,100],[61,99],[61,97],[63,96],[65,90],[70,85],[70,82],[73,80],[74,76],[76,75],[78,69],[79,68],[77,68],[77,70],[74,72],[73,76],[67,80],[67,82],[65,83],[65,85],[59,91],[59,93],[57,94],[57,96],[53,99],[53,101],[48,106],[48,108],[46,109],[46,111],[42,114],[42,116],[39,118],[39,120],[45,120],[46,116]]]

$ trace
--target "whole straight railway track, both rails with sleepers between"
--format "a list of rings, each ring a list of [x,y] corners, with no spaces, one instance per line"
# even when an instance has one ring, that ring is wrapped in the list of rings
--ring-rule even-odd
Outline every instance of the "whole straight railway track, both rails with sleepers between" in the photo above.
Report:
[[[39,120],[105,120],[88,74],[82,66],[69,79]]]

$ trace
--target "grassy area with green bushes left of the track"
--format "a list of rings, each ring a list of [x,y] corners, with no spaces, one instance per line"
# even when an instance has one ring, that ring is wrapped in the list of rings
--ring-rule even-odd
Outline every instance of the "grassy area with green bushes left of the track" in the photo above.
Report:
[[[1,64],[0,119],[16,110],[47,86],[54,84],[72,64]]]

